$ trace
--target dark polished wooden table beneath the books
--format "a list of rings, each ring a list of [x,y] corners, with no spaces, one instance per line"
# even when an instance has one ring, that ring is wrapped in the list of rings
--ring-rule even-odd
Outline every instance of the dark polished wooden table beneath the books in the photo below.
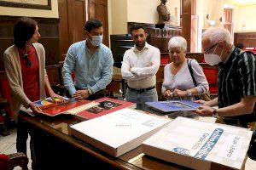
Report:
[[[20,113],[31,134],[31,150],[37,169],[186,169],[142,154],[138,147],[115,158],[74,138],[69,126],[80,122],[69,115],[29,116]],[[109,137],[111,138],[111,137]],[[212,169],[219,167],[212,164]]]

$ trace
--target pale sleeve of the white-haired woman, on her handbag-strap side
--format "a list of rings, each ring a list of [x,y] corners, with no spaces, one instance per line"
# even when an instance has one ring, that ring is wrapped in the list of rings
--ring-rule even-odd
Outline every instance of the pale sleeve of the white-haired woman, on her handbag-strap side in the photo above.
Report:
[[[207,94],[209,91],[209,83],[207,82],[207,77],[198,62],[195,59],[191,61],[191,67],[195,77],[195,82],[197,86],[195,87],[198,91],[198,94]]]

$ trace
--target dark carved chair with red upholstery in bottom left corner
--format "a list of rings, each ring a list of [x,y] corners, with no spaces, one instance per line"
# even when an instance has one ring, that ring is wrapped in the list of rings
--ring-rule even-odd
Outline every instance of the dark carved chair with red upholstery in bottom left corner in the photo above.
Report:
[[[15,154],[0,154],[0,169],[11,170],[20,166],[22,170],[27,170],[28,158],[24,153],[18,152]]]

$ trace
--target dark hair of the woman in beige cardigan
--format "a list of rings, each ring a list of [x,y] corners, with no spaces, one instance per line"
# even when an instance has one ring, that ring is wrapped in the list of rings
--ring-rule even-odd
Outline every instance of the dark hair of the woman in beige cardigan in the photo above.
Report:
[[[32,38],[38,26],[37,21],[28,17],[21,17],[15,23],[14,28],[14,43],[15,46],[23,48],[26,46],[26,41]]]

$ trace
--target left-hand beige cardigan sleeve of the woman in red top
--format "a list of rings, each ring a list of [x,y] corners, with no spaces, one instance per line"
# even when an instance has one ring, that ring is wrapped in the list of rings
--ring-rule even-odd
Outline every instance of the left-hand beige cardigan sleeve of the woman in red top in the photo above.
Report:
[[[11,62],[9,54],[3,54],[3,62],[12,94],[15,99],[20,100],[21,105],[27,108],[32,101],[26,97],[26,94],[20,86],[19,78],[17,74],[15,74],[14,65]]]

